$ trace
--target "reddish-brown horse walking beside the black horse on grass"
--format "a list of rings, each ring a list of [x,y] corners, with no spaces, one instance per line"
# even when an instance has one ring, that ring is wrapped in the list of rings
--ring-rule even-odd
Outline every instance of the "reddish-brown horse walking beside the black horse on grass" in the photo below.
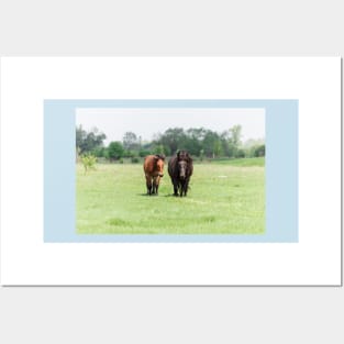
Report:
[[[160,154],[147,155],[143,169],[146,177],[147,195],[157,195],[160,178],[164,177],[165,156]]]

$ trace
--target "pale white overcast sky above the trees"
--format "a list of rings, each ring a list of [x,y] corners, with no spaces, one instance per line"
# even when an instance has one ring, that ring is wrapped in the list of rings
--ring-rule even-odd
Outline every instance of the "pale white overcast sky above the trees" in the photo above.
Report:
[[[168,127],[206,127],[223,132],[242,125],[242,140],[265,138],[264,109],[77,109],[76,124],[84,130],[98,127],[107,135],[106,145],[134,132],[142,141]]]

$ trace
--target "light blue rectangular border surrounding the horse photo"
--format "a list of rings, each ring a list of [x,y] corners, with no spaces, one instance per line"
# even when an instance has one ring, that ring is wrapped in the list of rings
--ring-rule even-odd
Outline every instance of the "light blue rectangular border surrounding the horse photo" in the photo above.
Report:
[[[264,108],[266,231],[264,234],[77,234],[75,113],[77,108]],[[44,242],[277,243],[298,242],[298,108],[288,100],[45,100]]]

